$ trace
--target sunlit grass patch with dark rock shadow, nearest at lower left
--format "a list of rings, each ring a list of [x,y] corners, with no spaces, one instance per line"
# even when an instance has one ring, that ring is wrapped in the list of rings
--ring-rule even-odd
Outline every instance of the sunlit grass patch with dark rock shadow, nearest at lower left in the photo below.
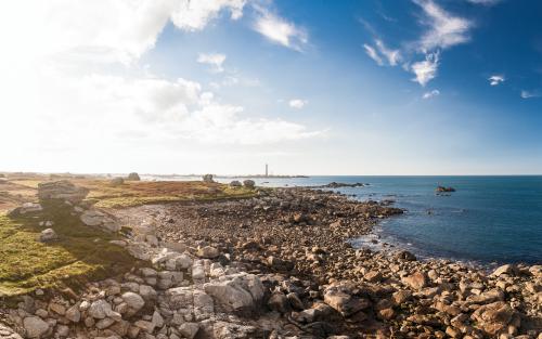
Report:
[[[60,240],[38,240],[40,221],[51,220]],[[10,218],[0,214],[0,297],[37,288],[78,288],[90,279],[127,272],[139,262],[124,248],[109,244],[116,235],[86,226],[64,206]]]

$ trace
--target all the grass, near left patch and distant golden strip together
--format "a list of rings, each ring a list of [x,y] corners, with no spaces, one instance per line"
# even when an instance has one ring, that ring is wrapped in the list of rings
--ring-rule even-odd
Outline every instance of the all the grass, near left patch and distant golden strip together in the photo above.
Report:
[[[86,226],[65,205],[44,206],[39,213],[11,218],[4,212],[25,201],[37,201],[38,184],[68,179],[90,190],[87,201],[99,208],[190,200],[247,198],[255,190],[220,183],[127,181],[112,186],[98,178],[50,178],[39,174],[8,175],[0,186],[0,298],[37,288],[77,289],[89,281],[127,272],[140,262],[124,248],[109,244],[117,235]],[[42,244],[40,221],[51,220],[60,240]]]

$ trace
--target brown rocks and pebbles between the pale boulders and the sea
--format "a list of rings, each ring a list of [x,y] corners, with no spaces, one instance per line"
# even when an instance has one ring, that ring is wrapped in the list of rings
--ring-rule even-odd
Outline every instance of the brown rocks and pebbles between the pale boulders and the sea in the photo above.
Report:
[[[451,261],[417,261],[387,244],[382,251],[352,248],[348,239],[402,212],[386,205],[295,188],[248,200],[145,208],[144,213],[155,216],[158,238],[220,248],[219,257],[257,274],[269,286],[268,310],[281,314],[275,324],[287,320],[298,328],[289,335],[538,338],[540,266],[504,266],[488,274]]]

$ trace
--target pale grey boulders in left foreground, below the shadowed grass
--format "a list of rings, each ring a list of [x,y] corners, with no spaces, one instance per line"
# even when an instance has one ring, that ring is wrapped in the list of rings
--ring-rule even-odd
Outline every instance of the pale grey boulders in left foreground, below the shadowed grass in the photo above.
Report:
[[[24,296],[7,317],[25,338],[263,338],[243,318],[263,302],[258,276],[168,250],[152,262],[81,296]]]

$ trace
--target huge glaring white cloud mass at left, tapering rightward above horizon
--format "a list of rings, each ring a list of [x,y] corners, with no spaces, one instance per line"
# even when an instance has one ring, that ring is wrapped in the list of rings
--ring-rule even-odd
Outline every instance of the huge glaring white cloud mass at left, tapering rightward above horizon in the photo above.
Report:
[[[53,158],[46,156],[52,155],[52,149],[65,152],[66,156],[56,160],[82,159],[91,154],[109,154],[108,159],[115,159],[118,152],[125,154],[136,148],[151,154],[164,147],[266,144],[323,133],[301,123],[245,112],[242,105],[224,103],[205,91],[198,81],[156,77],[139,65],[172,14],[182,11],[182,3],[0,2],[0,39],[4,47],[0,91],[10,93],[0,107],[10,113],[13,126],[0,133],[0,144],[25,134],[17,152],[27,158],[35,155],[54,168]],[[199,0],[191,3],[199,6]],[[217,3],[223,9],[227,3],[241,2]],[[208,24],[217,14],[212,13],[205,21],[183,16],[183,27],[203,27],[202,23]],[[14,27],[17,34],[13,34]],[[219,67],[223,63],[215,62]]]

